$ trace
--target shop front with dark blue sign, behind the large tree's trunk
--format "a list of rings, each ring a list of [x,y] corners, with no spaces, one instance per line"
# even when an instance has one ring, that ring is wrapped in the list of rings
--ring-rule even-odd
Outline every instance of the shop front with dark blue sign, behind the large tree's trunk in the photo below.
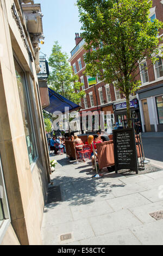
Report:
[[[139,102],[137,99],[130,100],[131,118],[141,124]],[[127,127],[127,103],[126,101],[114,104],[114,114],[116,122],[123,127]]]

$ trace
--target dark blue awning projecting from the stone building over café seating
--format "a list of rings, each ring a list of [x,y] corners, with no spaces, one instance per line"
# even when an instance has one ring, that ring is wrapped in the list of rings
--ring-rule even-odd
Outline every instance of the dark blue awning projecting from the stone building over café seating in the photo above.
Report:
[[[54,92],[54,90],[48,88],[48,93],[49,93],[49,101],[50,105],[45,109],[45,111],[53,114],[55,111],[60,111],[62,113],[65,113],[65,107],[69,107],[69,111],[72,111],[74,109],[79,109],[80,106],[77,105],[76,103],[73,103],[70,100],[67,100],[65,97],[62,95]]]

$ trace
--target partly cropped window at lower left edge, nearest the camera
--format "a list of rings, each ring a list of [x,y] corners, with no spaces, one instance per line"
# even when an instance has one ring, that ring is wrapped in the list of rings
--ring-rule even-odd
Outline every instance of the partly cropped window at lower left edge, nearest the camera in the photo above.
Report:
[[[10,223],[9,208],[7,201],[7,194],[5,191],[5,184],[3,178],[3,169],[0,156],[0,243],[3,240],[5,227]]]

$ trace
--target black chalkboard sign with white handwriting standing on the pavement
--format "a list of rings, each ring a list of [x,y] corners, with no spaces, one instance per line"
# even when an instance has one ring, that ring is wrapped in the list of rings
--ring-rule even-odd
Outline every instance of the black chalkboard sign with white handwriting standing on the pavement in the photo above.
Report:
[[[114,141],[115,172],[130,169],[138,173],[135,133],[133,128],[112,131]]]

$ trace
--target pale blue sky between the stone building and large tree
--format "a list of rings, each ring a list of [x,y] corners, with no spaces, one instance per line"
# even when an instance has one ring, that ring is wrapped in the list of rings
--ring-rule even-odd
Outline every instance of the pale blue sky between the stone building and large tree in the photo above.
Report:
[[[80,33],[78,8],[76,0],[35,0],[41,4],[43,14],[43,34],[45,44],[41,45],[41,52],[49,58],[54,41],[59,42],[62,52],[66,52],[70,58],[70,52],[74,48],[75,33]]]

